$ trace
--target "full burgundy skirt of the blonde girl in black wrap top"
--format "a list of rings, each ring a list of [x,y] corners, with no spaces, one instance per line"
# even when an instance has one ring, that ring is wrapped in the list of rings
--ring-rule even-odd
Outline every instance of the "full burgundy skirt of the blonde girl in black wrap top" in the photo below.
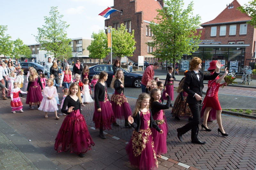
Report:
[[[85,153],[94,146],[84,116],[79,109],[67,115],[55,139],[54,149],[58,152]]]

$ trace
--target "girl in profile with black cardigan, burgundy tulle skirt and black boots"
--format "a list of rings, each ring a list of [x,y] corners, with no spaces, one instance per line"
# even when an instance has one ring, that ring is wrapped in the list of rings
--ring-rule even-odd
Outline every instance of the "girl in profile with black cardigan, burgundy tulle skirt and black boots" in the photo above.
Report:
[[[92,121],[95,123],[95,129],[100,129],[99,137],[101,139],[106,139],[103,130],[111,129],[111,124],[116,122],[108,97],[107,79],[108,73],[106,71],[101,71],[99,80],[94,89],[95,102]]]

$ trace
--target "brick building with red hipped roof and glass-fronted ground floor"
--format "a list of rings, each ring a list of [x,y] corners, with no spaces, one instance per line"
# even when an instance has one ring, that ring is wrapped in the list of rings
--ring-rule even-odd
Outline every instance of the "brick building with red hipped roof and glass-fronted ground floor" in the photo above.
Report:
[[[203,28],[197,29],[197,33],[202,31],[202,42],[191,56],[183,56],[180,70],[188,69],[187,61],[193,57],[203,60],[203,71],[207,71],[212,60],[219,60],[230,70],[236,69],[236,72],[249,65],[255,58],[256,29],[246,24],[251,17],[237,10],[239,6],[234,0],[216,18],[201,24]]]

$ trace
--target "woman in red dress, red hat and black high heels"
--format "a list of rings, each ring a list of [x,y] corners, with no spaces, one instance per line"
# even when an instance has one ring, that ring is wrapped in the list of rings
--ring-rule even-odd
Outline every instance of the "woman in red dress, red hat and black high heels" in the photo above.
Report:
[[[217,60],[210,62],[210,67],[207,69],[211,72],[210,74],[213,74],[215,72],[216,63]],[[222,86],[223,84],[227,85],[227,83],[220,84],[221,80],[223,80],[223,78],[227,74],[228,71],[227,68],[225,68],[225,73],[221,77],[217,76],[215,80],[208,81],[208,89],[203,101],[203,108],[201,111],[201,118],[204,119],[204,122],[201,125],[202,129],[204,128],[206,131],[211,131],[211,129],[207,127],[207,121],[217,119],[217,123],[219,125],[218,133],[220,132],[222,136],[228,136],[228,134],[225,133],[221,123],[221,107],[218,100],[218,91],[220,86]]]

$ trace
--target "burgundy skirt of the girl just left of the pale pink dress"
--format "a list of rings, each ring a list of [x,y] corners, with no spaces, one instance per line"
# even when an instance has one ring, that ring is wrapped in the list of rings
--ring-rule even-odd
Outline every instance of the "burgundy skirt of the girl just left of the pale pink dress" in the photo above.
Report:
[[[28,89],[26,104],[28,105],[40,105],[43,100],[43,95],[41,87],[37,86],[36,88],[30,86]]]

